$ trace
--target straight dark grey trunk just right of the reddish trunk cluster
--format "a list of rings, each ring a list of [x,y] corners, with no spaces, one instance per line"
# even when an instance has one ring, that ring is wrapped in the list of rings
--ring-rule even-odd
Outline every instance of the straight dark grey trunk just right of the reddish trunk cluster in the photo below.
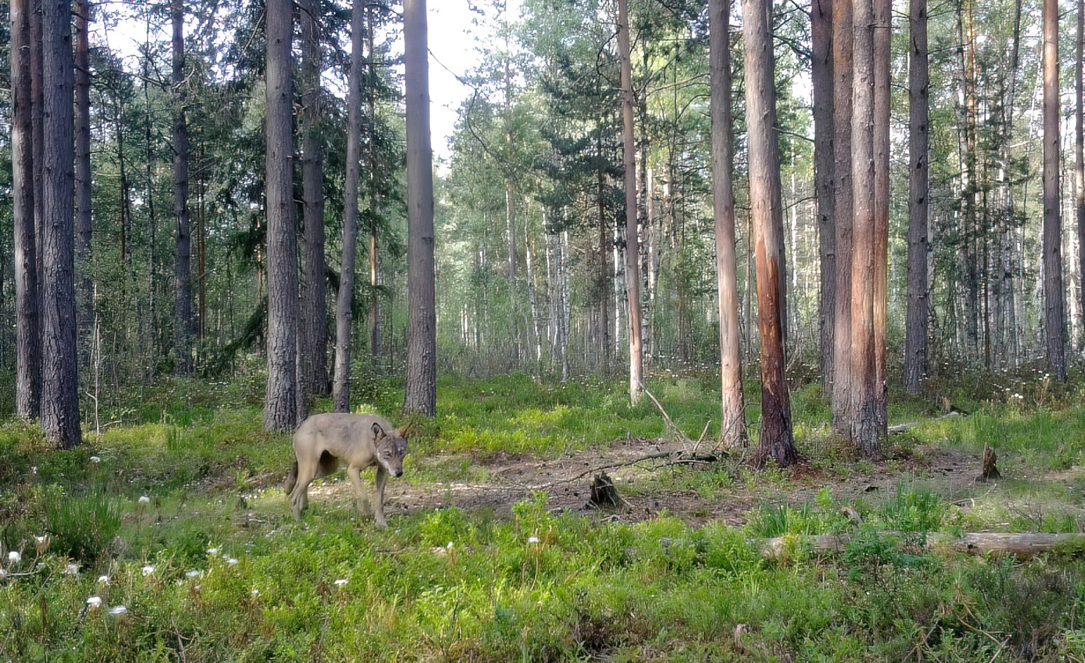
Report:
[[[908,48],[908,305],[905,322],[904,388],[919,393],[927,373],[927,329],[930,286],[927,283],[928,151],[930,75],[927,63],[927,0],[910,0]]]

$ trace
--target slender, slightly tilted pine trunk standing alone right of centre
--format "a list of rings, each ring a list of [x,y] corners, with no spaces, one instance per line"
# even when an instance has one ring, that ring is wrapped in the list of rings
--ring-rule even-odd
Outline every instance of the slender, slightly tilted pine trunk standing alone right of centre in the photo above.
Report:
[[[622,67],[622,144],[625,170],[625,299],[629,334],[629,400],[644,388],[644,353],[640,319],[640,240],[637,235],[637,165],[633,126],[633,63],[629,53],[629,3],[617,0],[617,43]]]

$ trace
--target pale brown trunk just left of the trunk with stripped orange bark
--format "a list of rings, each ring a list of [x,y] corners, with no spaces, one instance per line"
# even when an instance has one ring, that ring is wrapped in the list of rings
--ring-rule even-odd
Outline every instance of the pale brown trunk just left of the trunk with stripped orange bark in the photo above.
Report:
[[[720,441],[748,446],[742,398],[738,266],[735,255],[735,132],[731,124],[730,0],[709,5],[712,87],[712,200],[716,235],[716,288],[719,293]]]

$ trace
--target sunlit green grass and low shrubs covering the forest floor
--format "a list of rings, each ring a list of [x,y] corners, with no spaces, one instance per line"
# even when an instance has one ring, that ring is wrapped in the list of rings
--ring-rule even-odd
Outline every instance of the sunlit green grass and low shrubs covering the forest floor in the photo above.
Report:
[[[711,377],[651,388],[691,437],[718,419]],[[525,375],[443,381],[408,476],[483,480],[471,458],[551,458],[661,435],[654,407],[629,407],[624,390]],[[884,494],[826,488],[794,502],[774,497],[808,485],[809,469],[753,474],[732,463],[660,473],[636,492],[720,501],[738,488],[763,493],[744,527],[666,514],[602,522],[554,513],[538,494],[509,518],[454,507],[378,531],[327,500],[293,522],[277,488],[289,441],[260,432],[254,394],[157,385],[110,412],[123,425],[71,451],[47,449],[26,426],[0,429],[0,660],[1085,660],[1081,562],[947,558],[915,545],[928,532],[1082,531],[1085,407],[1072,395],[1039,407],[960,397],[973,416],[928,422],[896,443],[904,459],[870,467],[829,438],[816,390],[794,395],[816,475],[897,471],[932,445],[994,442],[1007,475],[994,487],[917,470]],[[400,398],[395,385],[371,383],[361,408],[395,412]],[[905,400],[892,418],[932,409]],[[880,534],[889,530],[905,540]],[[767,562],[754,543],[842,531],[852,543],[833,559],[796,546]],[[127,613],[110,615],[118,605]]]

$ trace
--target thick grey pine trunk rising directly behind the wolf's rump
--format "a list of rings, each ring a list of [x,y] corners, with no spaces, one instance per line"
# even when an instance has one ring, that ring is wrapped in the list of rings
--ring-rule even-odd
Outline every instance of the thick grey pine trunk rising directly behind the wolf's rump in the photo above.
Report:
[[[264,428],[297,424],[297,233],[294,224],[290,0],[267,0],[268,384]]]

